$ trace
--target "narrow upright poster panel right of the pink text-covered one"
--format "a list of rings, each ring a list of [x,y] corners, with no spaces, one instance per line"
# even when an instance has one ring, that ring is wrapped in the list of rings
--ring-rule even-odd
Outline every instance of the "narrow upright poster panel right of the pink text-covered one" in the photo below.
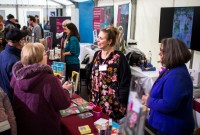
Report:
[[[118,6],[117,26],[124,34],[124,39],[127,41],[128,35],[128,22],[129,22],[129,4]]]

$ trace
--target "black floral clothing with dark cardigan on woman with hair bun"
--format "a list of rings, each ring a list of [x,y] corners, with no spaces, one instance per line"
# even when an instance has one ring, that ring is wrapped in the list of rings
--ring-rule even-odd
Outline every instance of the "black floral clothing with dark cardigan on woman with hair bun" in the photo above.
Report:
[[[101,58],[101,52],[97,51],[93,58],[90,101],[118,120],[126,113],[131,71],[122,52],[114,51],[107,59]],[[107,65],[107,70],[99,71],[103,64]]]

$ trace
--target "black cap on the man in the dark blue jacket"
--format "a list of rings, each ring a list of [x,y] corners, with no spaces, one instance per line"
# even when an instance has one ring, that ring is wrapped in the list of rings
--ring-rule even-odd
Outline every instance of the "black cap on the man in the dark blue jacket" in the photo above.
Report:
[[[13,28],[6,33],[6,39],[12,42],[19,42],[23,37],[27,36],[28,32],[26,30],[19,30],[18,28]]]

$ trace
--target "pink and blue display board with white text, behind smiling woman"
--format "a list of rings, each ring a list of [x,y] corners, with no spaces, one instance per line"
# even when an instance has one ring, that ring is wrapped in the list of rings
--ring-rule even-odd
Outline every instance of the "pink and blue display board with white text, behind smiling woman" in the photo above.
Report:
[[[99,31],[114,23],[114,7],[97,7],[93,9],[93,29]]]

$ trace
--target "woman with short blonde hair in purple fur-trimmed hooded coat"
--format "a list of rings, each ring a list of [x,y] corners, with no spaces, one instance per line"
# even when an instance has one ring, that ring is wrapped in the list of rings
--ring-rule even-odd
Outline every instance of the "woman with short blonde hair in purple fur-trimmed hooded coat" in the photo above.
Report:
[[[70,105],[71,84],[54,77],[45,48],[29,43],[12,69],[13,110],[19,135],[61,135],[59,110]]]

